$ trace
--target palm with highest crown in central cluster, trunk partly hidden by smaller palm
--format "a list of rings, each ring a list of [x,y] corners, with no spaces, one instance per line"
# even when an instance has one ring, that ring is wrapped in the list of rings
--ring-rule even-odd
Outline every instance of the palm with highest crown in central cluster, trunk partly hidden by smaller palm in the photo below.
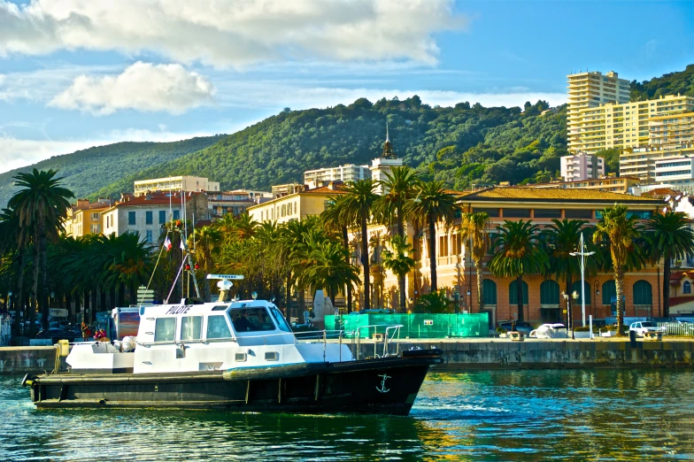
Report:
[[[379,181],[379,186],[388,193],[376,201],[374,212],[383,224],[391,227],[395,218],[397,236],[402,238],[405,236],[406,206],[417,195],[417,185],[420,184],[420,179],[409,166],[393,167],[390,172],[385,173],[385,176],[385,180]],[[405,311],[405,275],[406,273],[397,277],[401,311]]]

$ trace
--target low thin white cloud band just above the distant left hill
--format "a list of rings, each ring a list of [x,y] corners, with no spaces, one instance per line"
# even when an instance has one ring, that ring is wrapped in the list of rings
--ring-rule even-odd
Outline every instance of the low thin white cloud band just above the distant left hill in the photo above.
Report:
[[[85,150],[93,146],[103,146],[113,142],[174,142],[187,140],[195,136],[210,136],[205,132],[175,133],[168,131],[150,131],[139,128],[112,130],[104,134],[95,134],[89,138],[49,140],[19,139],[12,135],[0,133],[0,173],[15,168],[30,166],[52,156],[69,154],[75,150]]]

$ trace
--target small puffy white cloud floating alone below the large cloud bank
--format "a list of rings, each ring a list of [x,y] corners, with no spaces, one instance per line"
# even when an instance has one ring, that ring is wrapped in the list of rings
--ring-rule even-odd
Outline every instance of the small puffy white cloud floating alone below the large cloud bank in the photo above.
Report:
[[[138,62],[119,75],[80,75],[49,105],[99,115],[122,109],[180,114],[211,104],[214,93],[210,81],[198,73],[187,71],[182,65]]]

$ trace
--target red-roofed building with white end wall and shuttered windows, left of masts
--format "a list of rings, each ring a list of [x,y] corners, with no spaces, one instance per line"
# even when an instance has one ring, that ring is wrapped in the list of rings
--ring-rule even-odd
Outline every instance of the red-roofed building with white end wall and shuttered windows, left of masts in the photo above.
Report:
[[[162,227],[170,220],[192,222],[210,219],[207,196],[202,192],[152,193],[120,202],[102,212],[104,235],[139,233],[156,244]]]

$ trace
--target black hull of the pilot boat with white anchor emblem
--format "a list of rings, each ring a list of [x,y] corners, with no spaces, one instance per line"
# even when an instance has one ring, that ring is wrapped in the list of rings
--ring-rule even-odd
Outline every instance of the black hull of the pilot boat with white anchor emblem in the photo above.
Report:
[[[229,373],[45,374],[30,378],[40,408],[179,408],[235,412],[407,415],[440,350],[335,364]]]

